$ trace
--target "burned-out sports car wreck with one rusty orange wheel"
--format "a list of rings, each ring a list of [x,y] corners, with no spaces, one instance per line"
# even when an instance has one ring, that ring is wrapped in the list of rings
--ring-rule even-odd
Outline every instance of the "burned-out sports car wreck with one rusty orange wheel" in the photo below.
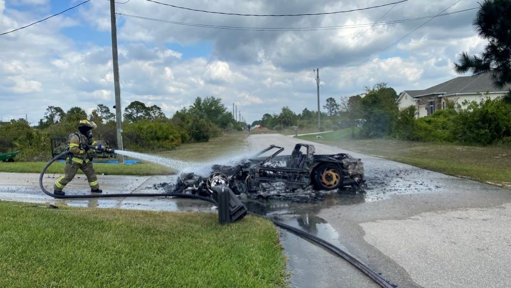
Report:
[[[310,144],[296,144],[291,155],[281,156],[282,151],[283,147],[270,145],[236,165],[213,165],[207,178],[183,173],[175,191],[208,196],[213,187],[228,186],[238,195],[268,197],[358,187],[364,183],[362,161],[349,154],[316,155]]]

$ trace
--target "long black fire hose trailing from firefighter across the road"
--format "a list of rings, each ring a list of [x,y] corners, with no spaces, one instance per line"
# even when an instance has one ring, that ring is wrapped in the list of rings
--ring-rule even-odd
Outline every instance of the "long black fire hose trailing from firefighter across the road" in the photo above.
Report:
[[[46,190],[44,188],[44,185],[42,184],[42,180],[44,178],[44,173],[46,172],[48,167],[50,167],[50,165],[52,165],[53,162],[55,162],[55,161],[57,161],[57,160],[59,160],[61,158],[64,158],[64,156],[66,156],[68,153],[70,153],[70,152],[69,151],[64,151],[64,152],[58,154],[52,160],[50,160],[46,164],[46,166],[44,166],[44,168],[41,171],[41,174],[39,176],[39,186],[41,187],[41,190],[45,194],[47,194],[48,196],[51,196],[51,197],[54,197],[54,198],[67,198],[67,199],[69,199],[69,198],[79,199],[79,198],[108,198],[108,197],[166,197],[166,196],[169,196],[169,197],[178,197],[178,198],[197,199],[197,200],[202,200],[202,201],[210,202],[210,203],[213,203],[213,204],[217,205],[217,203],[212,198],[210,198],[210,197],[203,197],[203,196],[199,196],[199,195],[191,195],[191,194],[183,194],[183,193],[147,193],[147,194],[146,193],[135,193],[135,194],[131,194],[131,193],[118,193],[118,194],[56,195],[54,193],[49,192],[48,190]],[[264,218],[272,221],[273,224],[275,224],[278,227],[284,228],[284,229],[286,229],[286,230],[288,230],[288,231],[298,235],[301,238],[309,239],[309,240],[317,243],[321,247],[326,248],[327,250],[333,252],[337,256],[339,256],[339,257],[343,258],[344,260],[348,261],[350,264],[354,265],[357,269],[362,271],[369,278],[373,279],[373,281],[378,283],[383,288],[394,288],[394,286],[389,284],[378,273],[374,272],[373,270],[368,268],[364,263],[360,262],[355,257],[350,255],[346,251],[336,247],[332,243],[330,243],[330,242],[328,242],[326,240],[323,240],[323,239],[321,239],[321,238],[319,238],[317,236],[314,236],[314,235],[312,235],[312,234],[310,234],[310,233],[308,233],[308,232],[306,232],[304,230],[300,230],[298,228],[294,228],[294,227],[292,227],[290,225],[282,223],[281,221],[277,221],[275,219],[272,219],[272,218],[270,218],[268,216],[256,214],[256,213],[253,213],[253,212],[248,212],[248,213],[250,213],[252,215],[259,216],[259,217],[264,217]]]

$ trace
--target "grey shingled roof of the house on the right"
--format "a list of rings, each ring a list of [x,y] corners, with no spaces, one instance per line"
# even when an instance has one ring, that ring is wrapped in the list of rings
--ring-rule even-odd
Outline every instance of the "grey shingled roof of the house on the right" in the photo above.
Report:
[[[500,89],[495,88],[492,81],[492,73],[486,72],[474,76],[456,77],[424,90],[405,90],[404,92],[415,98],[433,94],[506,92],[509,89],[511,89],[511,85]]]

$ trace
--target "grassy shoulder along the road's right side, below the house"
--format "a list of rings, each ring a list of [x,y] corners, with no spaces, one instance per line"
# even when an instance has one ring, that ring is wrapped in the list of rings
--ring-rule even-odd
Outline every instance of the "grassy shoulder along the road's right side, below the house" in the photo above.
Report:
[[[371,154],[449,175],[468,177],[479,182],[511,187],[511,149],[508,148],[388,139],[357,140],[351,139],[350,129],[322,134],[321,137],[322,139],[316,139],[315,135],[307,135],[298,138]]]

